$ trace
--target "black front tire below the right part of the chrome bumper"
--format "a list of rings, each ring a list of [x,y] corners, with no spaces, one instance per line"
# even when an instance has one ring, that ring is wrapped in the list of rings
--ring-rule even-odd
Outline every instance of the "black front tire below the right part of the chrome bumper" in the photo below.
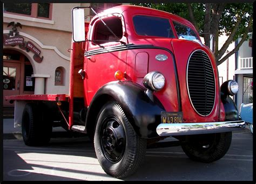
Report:
[[[195,161],[213,162],[222,158],[231,145],[232,132],[191,135],[181,144],[186,155]]]

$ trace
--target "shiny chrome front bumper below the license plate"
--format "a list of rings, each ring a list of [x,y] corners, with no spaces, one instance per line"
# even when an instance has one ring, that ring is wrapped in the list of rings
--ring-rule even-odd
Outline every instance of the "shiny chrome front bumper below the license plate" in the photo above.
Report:
[[[161,123],[157,126],[159,136],[184,136],[242,130],[244,121],[207,123]]]

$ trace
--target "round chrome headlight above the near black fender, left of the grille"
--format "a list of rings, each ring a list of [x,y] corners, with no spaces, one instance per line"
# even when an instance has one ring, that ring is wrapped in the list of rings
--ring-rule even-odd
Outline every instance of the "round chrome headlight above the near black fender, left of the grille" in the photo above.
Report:
[[[150,72],[145,75],[143,79],[143,84],[146,88],[150,90],[159,91],[163,89],[165,85],[164,75],[156,71]]]

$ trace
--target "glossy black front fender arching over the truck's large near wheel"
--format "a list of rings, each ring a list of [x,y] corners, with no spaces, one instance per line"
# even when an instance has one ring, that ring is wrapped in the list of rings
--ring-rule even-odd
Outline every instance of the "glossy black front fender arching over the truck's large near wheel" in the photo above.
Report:
[[[113,81],[97,91],[87,112],[87,131],[95,128],[99,110],[109,100],[119,103],[139,137],[158,137],[156,128],[161,123],[161,111],[165,111],[163,105],[156,97],[152,102],[142,86],[128,81]]]

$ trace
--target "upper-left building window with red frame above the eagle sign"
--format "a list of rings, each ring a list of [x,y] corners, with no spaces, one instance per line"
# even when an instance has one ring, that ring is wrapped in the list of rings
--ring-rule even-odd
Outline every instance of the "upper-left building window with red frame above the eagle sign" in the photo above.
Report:
[[[4,12],[51,19],[52,3],[4,3]]]

